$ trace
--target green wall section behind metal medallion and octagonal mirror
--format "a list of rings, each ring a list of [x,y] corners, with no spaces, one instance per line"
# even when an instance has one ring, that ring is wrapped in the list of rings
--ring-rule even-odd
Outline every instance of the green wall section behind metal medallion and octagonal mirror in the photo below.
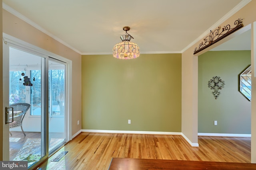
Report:
[[[198,133],[251,134],[251,102],[238,91],[238,74],[250,63],[250,51],[208,51],[198,56]],[[217,100],[208,88],[214,76],[226,84]]]

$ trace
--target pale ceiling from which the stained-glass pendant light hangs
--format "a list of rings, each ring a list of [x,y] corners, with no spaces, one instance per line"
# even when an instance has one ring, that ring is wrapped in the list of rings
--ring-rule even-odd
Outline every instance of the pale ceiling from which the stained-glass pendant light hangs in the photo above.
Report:
[[[141,53],[182,53],[250,0],[2,0],[81,55],[112,54],[130,26]],[[231,25],[233,26],[233,25]]]

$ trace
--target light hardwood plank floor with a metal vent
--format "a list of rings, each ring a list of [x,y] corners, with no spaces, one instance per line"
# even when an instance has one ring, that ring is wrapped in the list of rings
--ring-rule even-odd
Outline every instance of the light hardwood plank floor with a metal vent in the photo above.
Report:
[[[112,158],[250,163],[250,138],[198,137],[191,147],[180,135],[80,133],[38,170],[107,170]],[[60,152],[68,153],[51,162]]]

